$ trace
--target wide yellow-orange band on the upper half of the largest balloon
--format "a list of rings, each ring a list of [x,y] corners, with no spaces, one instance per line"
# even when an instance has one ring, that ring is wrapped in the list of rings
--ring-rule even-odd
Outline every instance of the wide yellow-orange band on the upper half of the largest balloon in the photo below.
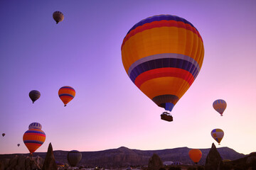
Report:
[[[191,30],[176,27],[152,28],[137,33],[125,42],[122,48],[122,62],[128,72],[132,63],[143,57],[176,53],[192,57],[201,67],[203,50],[201,38]]]

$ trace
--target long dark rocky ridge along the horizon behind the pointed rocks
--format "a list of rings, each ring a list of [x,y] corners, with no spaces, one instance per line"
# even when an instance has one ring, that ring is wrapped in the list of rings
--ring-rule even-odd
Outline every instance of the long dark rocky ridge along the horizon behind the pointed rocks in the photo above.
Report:
[[[124,166],[144,166],[149,163],[149,158],[153,154],[158,154],[162,162],[182,162],[183,164],[193,164],[188,157],[188,147],[179,147],[175,149],[161,149],[161,150],[139,150],[129,149],[127,147],[119,147],[117,149],[107,149],[97,152],[82,152],[82,160],[79,165],[84,166],[102,166],[105,168],[115,168]],[[205,164],[206,156],[209,149],[201,149],[203,153],[202,159],[198,164]],[[240,159],[245,157],[245,154],[235,152],[235,150],[228,147],[218,148],[218,152],[223,159]],[[67,155],[68,151],[54,151],[54,157],[58,162],[68,163]],[[0,159],[11,158],[17,154],[0,154]],[[28,154],[18,154],[27,156]],[[46,152],[36,152],[34,156],[46,157]]]

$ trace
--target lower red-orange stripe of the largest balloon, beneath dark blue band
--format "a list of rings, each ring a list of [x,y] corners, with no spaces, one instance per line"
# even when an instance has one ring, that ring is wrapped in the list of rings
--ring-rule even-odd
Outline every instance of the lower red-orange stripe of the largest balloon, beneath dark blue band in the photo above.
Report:
[[[191,84],[193,84],[193,81],[195,80],[193,78],[193,75],[184,69],[168,67],[160,69],[151,69],[147,72],[143,72],[142,74],[139,74],[139,76],[135,79],[134,84],[138,88],[140,88],[140,86],[142,86],[142,84],[145,81],[148,81],[150,79],[156,79],[159,77],[178,77],[187,81],[189,86],[191,86]]]

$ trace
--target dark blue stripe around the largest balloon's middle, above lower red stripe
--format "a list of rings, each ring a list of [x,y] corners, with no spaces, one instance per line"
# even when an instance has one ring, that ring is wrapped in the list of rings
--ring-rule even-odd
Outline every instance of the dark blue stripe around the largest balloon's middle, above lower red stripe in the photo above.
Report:
[[[143,62],[142,64],[138,64],[137,67],[134,67],[134,69],[132,69],[129,78],[134,82],[135,79],[139,76],[139,74],[142,74],[143,72],[149,71],[151,69],[159,69],[166,67],[184,69],[190,72],[193,75],[194,79],[196,79],[200,71],[196,68],[194,64],[188,62],[187,60],[181,60],[176,58],[161,58]]]

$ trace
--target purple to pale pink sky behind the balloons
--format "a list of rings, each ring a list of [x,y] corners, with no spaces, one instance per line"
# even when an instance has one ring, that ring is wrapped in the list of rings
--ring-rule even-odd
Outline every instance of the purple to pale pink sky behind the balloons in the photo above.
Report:
[[[23,134],[41,123],[36,152],[118,147],[230,147],[256,151],[256,1],[0,1],[0,154],[28,153]],[[58,24],[53,12],[61,11]],[[144,18],[171,14],[195,26],[205,48],[198,77],[172,111],[174,121],[127,76],[121,45]],[[63,107],[62,86],[75,98]],[[41,92],[32,104],[28,93]],[[220,117],[213,101],[228,106]],[[220,128],[218,145],[210,135]],[[17,147],[20,143],[21,146]]]

